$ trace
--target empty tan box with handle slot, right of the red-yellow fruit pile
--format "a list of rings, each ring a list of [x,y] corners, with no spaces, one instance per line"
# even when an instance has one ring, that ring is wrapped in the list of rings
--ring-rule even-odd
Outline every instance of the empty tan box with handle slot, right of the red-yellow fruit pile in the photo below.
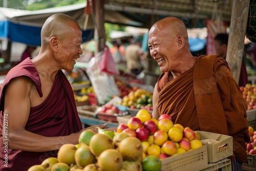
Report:
[[[233,155],[233,137],[198,131],[207,146],[208,162],[214,163]]]

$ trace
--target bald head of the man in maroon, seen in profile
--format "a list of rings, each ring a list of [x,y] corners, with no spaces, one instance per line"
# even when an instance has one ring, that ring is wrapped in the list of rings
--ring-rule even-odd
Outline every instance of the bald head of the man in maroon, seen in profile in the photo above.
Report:
[[[82,30],[76,20],[66,14],[53,14],[41,30],[41,50],[48,53],[56,70],[73,70],[82,54]]]

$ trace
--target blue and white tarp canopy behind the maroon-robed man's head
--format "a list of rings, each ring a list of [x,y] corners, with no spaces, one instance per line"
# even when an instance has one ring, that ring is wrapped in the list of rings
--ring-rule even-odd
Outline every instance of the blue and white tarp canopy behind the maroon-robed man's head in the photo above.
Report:
[[[77,19],[83,28],[84,7],[72,5],[65,7],[49,8],[37,11],[16,10],[0,8],[0,39],[21,42],[28,45],[41,45],[40,32],[45,20],[54,13],[65,13]],[[87,30],[83,30],[83,42],[90,41],[94,36],[94,26],[90,22]]]

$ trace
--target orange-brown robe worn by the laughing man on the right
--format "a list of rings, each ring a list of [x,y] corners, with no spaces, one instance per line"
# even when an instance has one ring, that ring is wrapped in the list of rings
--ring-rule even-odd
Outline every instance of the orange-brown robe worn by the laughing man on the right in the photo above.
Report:
[[[168,81],[158,80],[159,114],[169,114],[174,123],[233,137],[233,152],[247,162],[245,141],[249,141],[247,104],[226,61],[216,55],[202,55],[194,67]]]

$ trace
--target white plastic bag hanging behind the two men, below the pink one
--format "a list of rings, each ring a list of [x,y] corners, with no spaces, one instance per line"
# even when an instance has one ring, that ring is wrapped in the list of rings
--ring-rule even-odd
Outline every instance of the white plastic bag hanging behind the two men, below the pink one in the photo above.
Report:
[[[113,75],[100,70],[103,56],[104,51],[98,52],[96,56],[88,62],[86,70],[99,104],[104,104],[105,99],[108,99],[109,96],[120,95]]]

